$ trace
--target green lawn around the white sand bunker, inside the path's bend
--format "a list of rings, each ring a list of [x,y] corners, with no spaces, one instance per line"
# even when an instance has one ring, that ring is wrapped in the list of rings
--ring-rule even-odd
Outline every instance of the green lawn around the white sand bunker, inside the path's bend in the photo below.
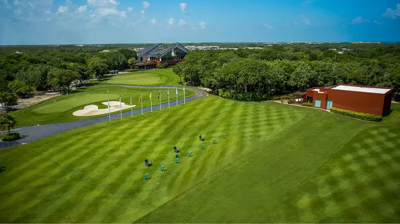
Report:
[[[75,116],[72,113],[78,109],[83,109],[86,105],[94,104],[99,109],[107,108],[102,102],[114,100],[130,105],[130,97],[132,95],[132,103],[136,106],[133,109],[139,109],[141,104],[139,96],[143,95],[143,107],[150,106],[150,91],[152,92],[153,106],[160,103],[157,98],[158,92],[161,90],[161,102],[168,101],[167,89],[150,89],[150,88],[129,88],[119,86],[104,86],[81,88],[77,92],[68,95],[56,96],[51,99],[39,102],[33,106],[17,110],[12,114],[16,116],[18,126],[30,126],[44,123],[64,122],[78,119],[88,119],[91,117],[105,116],[106,114],[94,116]],[[186,97],[194,95],[193,91],[185,90]],[[175,89],[170,89],[171,100],[176,99]],[[183,90],[178,89],[178,98],[183,98]],[[123,111],[130,110],[130,108]],[[119,113],[116,111],[113,113]]]

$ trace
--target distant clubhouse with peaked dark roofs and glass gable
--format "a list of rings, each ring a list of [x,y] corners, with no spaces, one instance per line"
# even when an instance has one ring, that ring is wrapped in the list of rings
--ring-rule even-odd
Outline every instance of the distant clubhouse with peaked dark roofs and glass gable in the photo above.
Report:
[[[189,50],[178,42],[166,47],[163,43],[159,43],[138,50],[138,59],[135,65],[140,69],[147,69],[162,63],[176,64],[182,61],[188,52]]]

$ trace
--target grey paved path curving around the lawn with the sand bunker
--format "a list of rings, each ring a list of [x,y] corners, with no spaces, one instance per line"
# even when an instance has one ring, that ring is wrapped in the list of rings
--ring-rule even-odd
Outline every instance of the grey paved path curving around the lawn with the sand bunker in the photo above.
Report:
[[[99,86],[121,86],[121,87],[128,87],[128,88],[171,88],[174,89],[176,86],[136,86],[136,85],[119,85],[119,84],[108,84],[108,85],[95,85],[95,86],[90,86],[90,87],[99,87]],[[178,87],[179,89],[182,89],[181,87]],[[197,88],[186,88],[188,90],[194,91],[195,94],[189,97],[186,97],[186,101],[192,101],[195,99],[203,98],[207,96],[208,94],[200,89]],[[183,98],[178,99],[178,104],[183,103]],[[177,105],[176,100],[171,100],[170,105]],[[168,107],[168,102],[161,103],[161,108]],[[159,104],[155,105],[154,109],[158,109]],[[150,106],[143,107],[143,112],[150,111]],[[141,109],[135,109],[133,110],[133,114],[138,114],[141,113]],[[122,116],[131,116],[131,111],[125,111],[122,112]],[[111,119],[120,119],[121,114],[116,113],[111,115]],[[12,132],[20,132],[22,135],[22,138],[20,140],[16,141],[0,141],[0,149],[5,149],[13,146],[17,146],[20,144],[25,144],[30,141],[38,140],[44,137],[48,137],[53,134],[61,133],[67,130],[72,130],[75,128],[87,126],[90,124],[94,123],[99,123],[99,122],[104,122],[108,121],[109,117],[108,114],[101,116],[101,117],[94,117],[94,118],[89,118],[89,119],[83,119],[83,120],[75,120],[75,121],[68,121],[68,122],[61,122],[61,123],[49,123],[49,124],[42,124],[42,125],[36,125],[36,126],[26,126],[26,127],[19,127]]]

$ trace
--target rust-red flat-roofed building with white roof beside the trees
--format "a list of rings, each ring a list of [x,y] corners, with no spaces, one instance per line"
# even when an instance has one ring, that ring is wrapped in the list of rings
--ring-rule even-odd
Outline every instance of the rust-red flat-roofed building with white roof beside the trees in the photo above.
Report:
[[[312,102],[312,107],[331,107],[356,112],[382,115],[390,109],[393,88],[363,85],[337,84],[307,89],[303,101]]]

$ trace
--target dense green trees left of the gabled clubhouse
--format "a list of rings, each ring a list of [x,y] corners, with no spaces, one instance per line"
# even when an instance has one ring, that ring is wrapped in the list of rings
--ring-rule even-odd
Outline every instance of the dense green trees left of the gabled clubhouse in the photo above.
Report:
[[[36,91],[55,89],[68,93],[71,83],[78,85],[89,77],[102,78],[107,70],[127,68],[128,60],[137,57],[136,51],[123,48],[107,52],[27,48],[30,50],[23,53],[0,53],[0,103],[6,109],[17,102],[17,97],[32,96]]]

